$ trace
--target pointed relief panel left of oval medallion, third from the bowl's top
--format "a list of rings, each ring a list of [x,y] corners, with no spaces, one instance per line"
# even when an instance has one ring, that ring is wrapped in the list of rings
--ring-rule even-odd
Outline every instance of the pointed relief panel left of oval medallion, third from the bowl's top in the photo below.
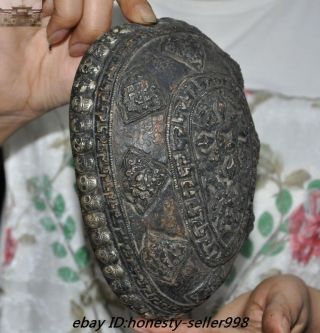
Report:
[[[143,215],[152,205],[167,181],[164,166],[146,153],[130,148],[123,160],[124,194],[138,214]]]

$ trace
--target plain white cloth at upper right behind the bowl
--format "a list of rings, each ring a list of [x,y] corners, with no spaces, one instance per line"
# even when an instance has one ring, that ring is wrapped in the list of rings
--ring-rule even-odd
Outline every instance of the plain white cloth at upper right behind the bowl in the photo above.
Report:
[[[319,0],[150,0],[159,17],[186,20],[239,62],[245,85],[320,95]]]

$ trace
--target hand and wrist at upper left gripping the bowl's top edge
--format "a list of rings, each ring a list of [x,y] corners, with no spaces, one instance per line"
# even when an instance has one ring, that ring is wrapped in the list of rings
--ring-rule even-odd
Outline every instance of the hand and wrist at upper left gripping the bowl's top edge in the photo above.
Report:
[[[118,3],[129,21],[156,20],[146,0]],[[0,144],[69,101],[80,57],[110,29],[112,7],[112,0],[46,0],[43,27],[0,27]]]

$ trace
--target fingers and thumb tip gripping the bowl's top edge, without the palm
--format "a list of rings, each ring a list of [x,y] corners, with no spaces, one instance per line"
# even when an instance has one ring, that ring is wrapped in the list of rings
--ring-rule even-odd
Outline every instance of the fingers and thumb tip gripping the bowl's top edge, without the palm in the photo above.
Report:
[[[131,22],[152,24],[154,12],[146,0],[117,0],[123,15]],[[47,37],[50,46],[69,36],[69,54],[83,56],[112,23],[113,0],[46,0],[43,16],[50,16]]]

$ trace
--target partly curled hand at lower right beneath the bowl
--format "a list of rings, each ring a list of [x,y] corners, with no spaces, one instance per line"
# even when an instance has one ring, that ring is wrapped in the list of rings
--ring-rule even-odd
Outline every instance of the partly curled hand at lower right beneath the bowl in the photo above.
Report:
[[[215,316],[217,320],[248,317],[247,327],[187,328],[186,322],[179,325],[175,333],[318,333],[319,313],[320,291],[293,275],[282,275],[263,281],[252,292],[224,306]],[[172,330],[136,329],[136,332],[172,333]]]

